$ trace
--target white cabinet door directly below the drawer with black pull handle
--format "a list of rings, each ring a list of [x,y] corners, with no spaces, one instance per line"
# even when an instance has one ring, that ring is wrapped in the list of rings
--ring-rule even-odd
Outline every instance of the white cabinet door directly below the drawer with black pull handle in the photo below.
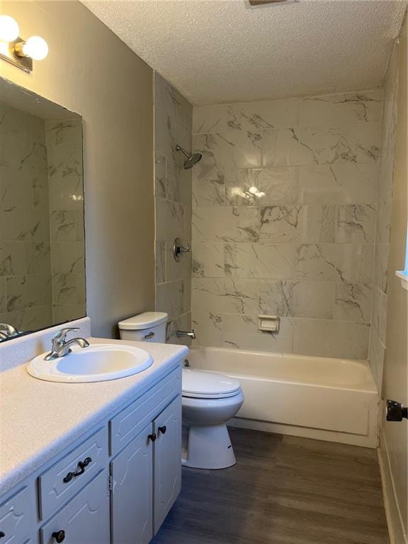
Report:
[[[109,489],[100,472],[67,506],[41,528],[41,543],[110,544]]]

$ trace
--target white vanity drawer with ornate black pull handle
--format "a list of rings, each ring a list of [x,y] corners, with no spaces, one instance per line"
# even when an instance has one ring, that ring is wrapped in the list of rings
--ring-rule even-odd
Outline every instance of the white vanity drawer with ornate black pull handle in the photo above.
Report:
[[[91,459],[89,461],[89,459]],[[82,463],[86,460],[86,466]],[[100,429],[38,478],[40,516],[46,519],[108,463],[108,429]]]

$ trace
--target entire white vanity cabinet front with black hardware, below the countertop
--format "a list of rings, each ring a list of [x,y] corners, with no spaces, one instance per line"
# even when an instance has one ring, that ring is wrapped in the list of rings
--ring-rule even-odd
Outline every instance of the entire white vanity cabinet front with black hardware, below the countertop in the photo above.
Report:
[[[0,544],[148,544],[180,489],[181,363],[0,499]]]

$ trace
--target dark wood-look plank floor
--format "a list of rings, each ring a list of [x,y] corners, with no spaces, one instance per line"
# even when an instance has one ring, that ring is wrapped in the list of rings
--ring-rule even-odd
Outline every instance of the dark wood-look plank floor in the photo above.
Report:
[[[237,465],[183,468],[152,544],[387,544],[375,450],[231,429]]]

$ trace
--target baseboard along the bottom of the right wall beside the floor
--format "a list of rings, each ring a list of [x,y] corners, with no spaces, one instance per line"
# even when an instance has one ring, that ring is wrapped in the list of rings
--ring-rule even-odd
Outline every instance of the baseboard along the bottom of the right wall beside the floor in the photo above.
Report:
[[[387,441],[385,440],[385,435],[382,429],[380,430],[378,461],[380,463],[382,493],[384,495],[385,515],[387,516],[390,544],[408,544],[408,538],[404,531],[404,523],[402,522],[397,495],[395,494]]]

